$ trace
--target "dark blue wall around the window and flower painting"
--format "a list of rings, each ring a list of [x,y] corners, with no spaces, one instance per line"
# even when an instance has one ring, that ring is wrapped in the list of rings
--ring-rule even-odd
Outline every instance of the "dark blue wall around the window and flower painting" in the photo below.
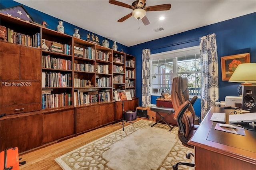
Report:
[[[150,48],[151,54],[154,54],[192,47],[199,45],[199,37],[213,33],[216,34],[218,51],[219,101],[224,101],[226,96],[238,96],[237,87],[240,83],[222,81],[220,57],[250,53],[250,62],[256,63],[256,12],[129,47],[129,53],[136,56],[136,95],[140,99],[139,105],[142,87],[142,49]],[[156,96],[152,96],[152,103],[155,103],[155,99]],[[196,101],[194,108],[196,115],[200,115],[200,99]]]

